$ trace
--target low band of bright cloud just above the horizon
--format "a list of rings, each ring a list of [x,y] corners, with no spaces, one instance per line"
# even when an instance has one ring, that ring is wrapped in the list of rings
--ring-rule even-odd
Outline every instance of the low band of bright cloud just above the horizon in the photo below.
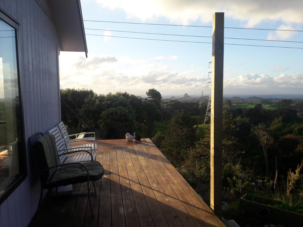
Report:
[[[210,90],[206,88],[209,78],[205,68],[189,67],[176,71],[171,65],[155,64],[153,58],[102,55],[85,58],[80,54],[60,53],[60,84],[63,88],[92,88],[102,94],[126,90],[143,95],[155,87],[161,94],[171,93],[169,96],[178,93],[197,95],[201,90],[206,94]],[[303,74],[280,74],[277,77],[244,74],[224,78],[224,94],[302,94],[302,90]]]

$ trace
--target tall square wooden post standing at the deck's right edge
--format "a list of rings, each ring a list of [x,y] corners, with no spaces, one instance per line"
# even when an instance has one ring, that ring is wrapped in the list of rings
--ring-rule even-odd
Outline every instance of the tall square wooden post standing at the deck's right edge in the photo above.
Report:
[[[221,219],[224,13],[212,22],[210,206]]]

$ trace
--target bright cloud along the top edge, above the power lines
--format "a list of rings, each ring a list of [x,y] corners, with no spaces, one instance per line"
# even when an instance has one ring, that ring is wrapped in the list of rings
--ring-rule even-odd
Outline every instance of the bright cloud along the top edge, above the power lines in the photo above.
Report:
[[[129,18],[139,18],[142,21],[162,17],[183,24],[197,20],[207,23],[212,21],[214,12],[225,12],[225,17],[240,20],[248,27],[255,26],[261,21],[303,22],[301,0],[292,0],[287,3],[284,0],[96,0],[96,2],[111,10],[122,9]]]

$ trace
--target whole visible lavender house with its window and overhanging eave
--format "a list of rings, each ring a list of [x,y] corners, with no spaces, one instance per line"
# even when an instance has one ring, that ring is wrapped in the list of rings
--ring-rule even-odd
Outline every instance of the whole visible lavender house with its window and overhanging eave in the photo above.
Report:
[[[40,183],[28,138],[61,121],[59,51],[87,54],[79,0],[0,0],[0,226],[27,226]]]

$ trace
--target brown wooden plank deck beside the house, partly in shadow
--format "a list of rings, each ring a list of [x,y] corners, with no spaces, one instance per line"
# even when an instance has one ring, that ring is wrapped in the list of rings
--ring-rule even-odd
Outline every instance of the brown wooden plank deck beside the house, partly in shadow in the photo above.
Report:
[[[98,140],[97,148],[105,174],[91,197],[95,217],[87,196],[54,196],[33,226],[225,226],[151,140]]]

